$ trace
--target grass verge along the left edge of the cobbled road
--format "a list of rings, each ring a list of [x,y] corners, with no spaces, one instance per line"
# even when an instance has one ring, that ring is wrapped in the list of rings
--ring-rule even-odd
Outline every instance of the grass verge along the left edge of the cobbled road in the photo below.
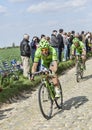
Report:
[[[92,52],[87,54],[87,59],[90,57],[92,57]],[[72,68],[74,65],[74,60],[59,63],[57,74],[61,75],[63,71]],[[3,91],[0,93],[0,103],[6,103],[7,100],[15,95],[19,95],[24,90],[28,91],[35,88],[40,83],[40,80],[41,78],[39,76],[35,78],[35,81],[30,81],[28,79],[24,79],[23,76],[20,76],[19,80],[16,80],[3,88]]]

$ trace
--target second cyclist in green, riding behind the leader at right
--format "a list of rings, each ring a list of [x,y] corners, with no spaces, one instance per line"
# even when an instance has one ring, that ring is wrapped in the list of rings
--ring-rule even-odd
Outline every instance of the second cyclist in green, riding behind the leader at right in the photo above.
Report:
[[[73,44],[71,46],[71,55],[81,55],[82,62],[85,68],[86,61],[86,47],[83,42],[81,42],[78,38],[73,39]]]

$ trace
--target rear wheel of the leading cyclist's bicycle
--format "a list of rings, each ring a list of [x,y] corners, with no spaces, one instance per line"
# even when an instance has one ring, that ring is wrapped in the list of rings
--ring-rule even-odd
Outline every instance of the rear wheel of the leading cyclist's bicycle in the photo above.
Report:
[[[57,108],[62,109],[63,108],[63,92],[62,92],[62,86],[59,81],[59,89],[60,89],[60,97],[55,98],[55,103]]]

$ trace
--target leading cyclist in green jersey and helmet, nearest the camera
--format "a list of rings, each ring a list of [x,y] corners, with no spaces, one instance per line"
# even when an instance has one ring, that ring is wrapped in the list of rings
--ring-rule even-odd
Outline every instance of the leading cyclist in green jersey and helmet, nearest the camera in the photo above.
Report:
[[[34,63],[32,66],[31,73],[36,72],[39,60],[41,60],[41,66],[42,66],[41,68],[45,66],[46,68],[50,69],[51,72],[54,74],[52,82],[55,85],[56,97],[59,97],[60,96],[60,91],[58,88],[59,82],[58,77],[56,75],[56,71],[58,68],[57,53],[56,50],[50,46],[49,42],[46,39],[41,39],[39,48],[37,48],[35,52]],[[31,79],[33,79],[32,76]]]

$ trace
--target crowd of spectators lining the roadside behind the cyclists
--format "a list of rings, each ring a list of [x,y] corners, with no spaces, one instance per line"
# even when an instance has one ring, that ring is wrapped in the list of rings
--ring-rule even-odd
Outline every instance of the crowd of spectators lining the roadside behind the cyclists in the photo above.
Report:
[[[24,66],[25,66],[25,63],[28,61],[28,64],[26,63],[26,67],[24,67],[25,69],[27,68],[27,71],[24,72],[24,76],[27,77],[27,73],[28,71],[30,71],[29,57],[31,58],[32,63],[33,63],[35,51],[39,47],[39,42],[42,38],[47,39],[49,44],[55,48],[57,52],[57,56],[58,56],[58,62],[63,62],[70,59],[72,40],[75,37],[79,38],[79,40],[84,43],[87,53],[92,51],[92,33],[91,32],[81,31],[81,33],[76,33],[74,30],[72,30],[71,32],[65,32],[64,29],[59,29],[59,30],[53,30],[51,33],[51,36],[46,36],[45,34],[42,34],[40,38],[38,36],[34,36],[31,39],[31,41],[29,41],[29,35],[27,34],[24,35],[24,38],[20,44],[21,58],[22,58]],[[24,54],[24,51],[23,51],[22,44],[25,44],[25,43],[28,46],[27,48],[28,54]],[[39,66],[40,64],[41,64],[41,61],[39,61]],[[39,70],[39,66],[38,66],[38,70]]]

